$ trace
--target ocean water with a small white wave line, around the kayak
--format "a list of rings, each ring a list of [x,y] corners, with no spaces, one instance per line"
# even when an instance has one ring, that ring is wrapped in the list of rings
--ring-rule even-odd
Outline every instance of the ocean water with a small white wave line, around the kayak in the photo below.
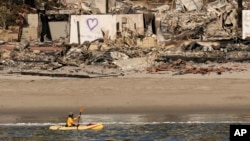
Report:
[[[231,124],[250,124],[250,115],[84,115],[81,124],[102,122],[104,129],[49,130],[58,123],[0,124],[0,141],[229,141]]]

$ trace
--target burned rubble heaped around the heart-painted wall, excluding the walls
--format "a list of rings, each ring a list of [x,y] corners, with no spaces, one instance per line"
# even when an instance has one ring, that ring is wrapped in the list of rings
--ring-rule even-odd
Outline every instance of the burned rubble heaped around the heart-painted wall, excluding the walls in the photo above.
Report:
[[[55,77],[122,76],[126,72],[175,71],[221,74],[235,69],[197,67],[197,64],[248,62],[249,43],[241,40],[235,1],[203,3],[186,0],[151,7],[138,1],[109,1],[106,14],[144,14],[145,31],[128,30],[126,36],[70,44],[68,37],[50,42],[0,39],[0,68],[8,73]],[[173,8],[175,7],[175,9]],[[100,14],[97,4],[78,1],[51,5],[48,15]],[[124,34],[124,33],[122,33]],[[1,35],[1,32],[0,32]],[[53,50],[54,48],[54,50]],[[237,71],[244,69],[237,69]]]

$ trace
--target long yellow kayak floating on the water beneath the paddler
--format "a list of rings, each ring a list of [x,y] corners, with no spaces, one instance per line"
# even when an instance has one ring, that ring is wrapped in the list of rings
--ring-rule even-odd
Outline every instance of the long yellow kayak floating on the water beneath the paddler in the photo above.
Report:
[[[91,125],[80,125],[78,127],[66,127],[63,125],[53,125],[50,126],[50,130],[102,130],[104,125],[102,123],[96,123]]]

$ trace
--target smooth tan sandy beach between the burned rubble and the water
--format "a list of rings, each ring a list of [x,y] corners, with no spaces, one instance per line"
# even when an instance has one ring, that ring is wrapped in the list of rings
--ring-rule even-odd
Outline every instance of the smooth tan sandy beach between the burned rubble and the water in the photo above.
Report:
[[[0,122],[63,117],[81,106],[84,114],[250,113],[249,84],[249,71],[91,79],[2,75]]]

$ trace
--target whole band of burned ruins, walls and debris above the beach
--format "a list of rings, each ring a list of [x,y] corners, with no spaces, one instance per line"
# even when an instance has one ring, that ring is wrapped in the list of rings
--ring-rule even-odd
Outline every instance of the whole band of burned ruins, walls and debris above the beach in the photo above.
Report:
[[[78,78],[244,71],[223,63],[250,59],[249,41],[242,38],[242,10],[248,5],[241,0],[5,0],[0,69]],[[74,18],[91,15],[89,32],[80,20],[73,25]],[[107,15],[114,22],[105,21]]]

